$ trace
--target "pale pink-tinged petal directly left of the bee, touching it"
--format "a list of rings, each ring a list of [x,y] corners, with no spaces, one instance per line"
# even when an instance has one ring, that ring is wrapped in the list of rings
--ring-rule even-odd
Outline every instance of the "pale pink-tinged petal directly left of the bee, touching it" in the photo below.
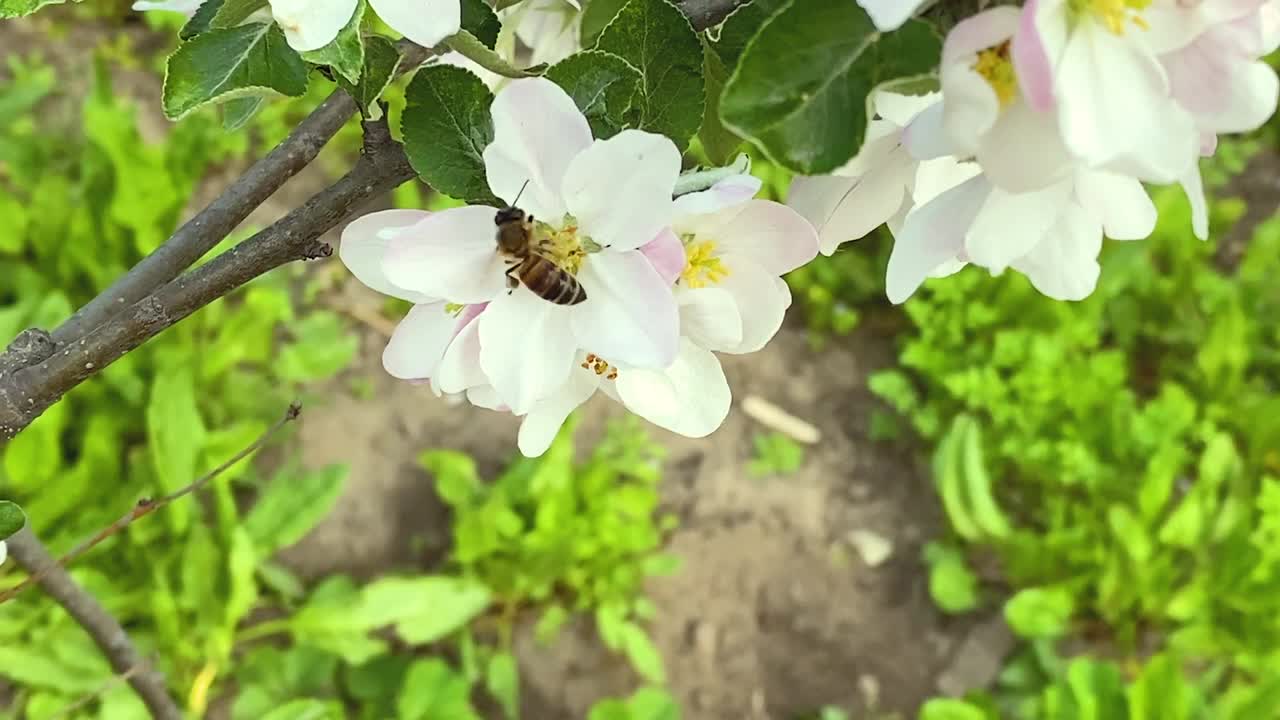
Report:
[[[506,290],[493,217],[483,205],[453,208],[390,240],[383,273],[398,287],[451,302],[484,302]]]

